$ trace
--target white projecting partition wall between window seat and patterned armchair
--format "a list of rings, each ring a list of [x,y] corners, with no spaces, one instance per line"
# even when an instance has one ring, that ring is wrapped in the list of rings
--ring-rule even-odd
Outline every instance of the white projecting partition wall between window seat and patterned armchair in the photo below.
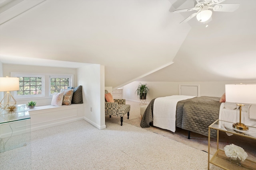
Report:
[[[104,66],[91,64],[80,67],[78,68],[77,78],[78,84],[83,86],[84,119],[98,129],[106,128]]]

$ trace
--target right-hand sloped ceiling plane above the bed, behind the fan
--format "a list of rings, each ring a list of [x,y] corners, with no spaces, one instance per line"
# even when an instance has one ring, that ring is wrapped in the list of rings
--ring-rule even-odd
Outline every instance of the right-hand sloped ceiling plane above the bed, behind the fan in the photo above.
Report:
[[[223,3],[240,6],[234,12],[213,12],[207,28],[196,18],[190,20],[192,28],[174,64],[139,80],[163,81],[163,77],[170,82],[256,80],[256,1]],[[182,5],[183,8],[193,6]],[[186,18],[192,13],[182,15]]]

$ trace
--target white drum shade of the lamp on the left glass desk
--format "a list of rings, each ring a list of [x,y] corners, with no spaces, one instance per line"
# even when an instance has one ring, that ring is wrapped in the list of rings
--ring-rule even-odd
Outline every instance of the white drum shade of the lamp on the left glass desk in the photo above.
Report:
[[[0,77],[0,92],[20,90],[18,77]]]

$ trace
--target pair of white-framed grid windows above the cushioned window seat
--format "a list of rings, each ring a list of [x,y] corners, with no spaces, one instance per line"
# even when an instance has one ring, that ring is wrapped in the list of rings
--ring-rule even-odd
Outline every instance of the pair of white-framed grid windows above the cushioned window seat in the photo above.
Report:
[[[73,74],[32,74],[11,72],[12,77],[18,77],[20,90],[14,91],[16,99],[50,98],[54,92],[73,86]]]

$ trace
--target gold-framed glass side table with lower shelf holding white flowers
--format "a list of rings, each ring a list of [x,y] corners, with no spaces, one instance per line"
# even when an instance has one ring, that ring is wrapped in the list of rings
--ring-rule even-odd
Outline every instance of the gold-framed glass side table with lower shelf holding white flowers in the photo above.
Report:
[[[231,164],[229,158],[226,156],[224,150],[219,149],[219,131],[224,131],[226,133],[232,133],[234,135],[239,135],[242,137],[247,137],[250,139],[256,140],[256,127],[249,127],[248,131],[241,131],[238,129],[233,129],[232,122],[216,120],[208,129],[208,170],[210,168],[210,163],[225,170],[256,170],[256,162],[246,159],[244,162],[241,162],[241,166],[236,164]],[[210,129],[217,130],[217,151],[212,156],[210,160]]]

